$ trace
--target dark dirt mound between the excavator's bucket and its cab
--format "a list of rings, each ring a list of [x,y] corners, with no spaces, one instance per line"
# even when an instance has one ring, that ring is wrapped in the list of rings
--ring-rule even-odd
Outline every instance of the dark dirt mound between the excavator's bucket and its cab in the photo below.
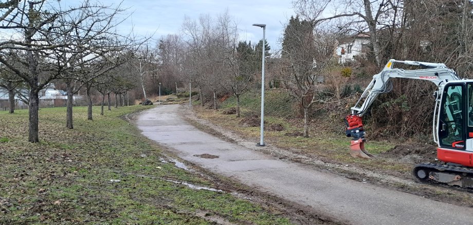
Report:
[[[387,158],[399,159],[412,163],[432,161],[436,158],[436,148],[430,144],[408,142],[397,144],[390,151],[380,154]]]

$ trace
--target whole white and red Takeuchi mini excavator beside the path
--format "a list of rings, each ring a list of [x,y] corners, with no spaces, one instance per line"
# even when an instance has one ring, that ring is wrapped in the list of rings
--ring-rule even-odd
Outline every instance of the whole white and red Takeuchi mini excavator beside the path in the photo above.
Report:
[[[351,114],[344,119],[345,135],[353,138],[350,141],[351,156],[362,159],[374,157],[365,149],[366,132],[361,117],[380,93],[392,90],[391,78],[426,80],[438,87],[433,93],[435,105],[432,120],[437,159],[435,163],[415,165],[412,168],[414,181],[473,189],[473,80],[460,79],[453,69],[443,63],[392,59],[380,73],[373,76],[351,108]]]

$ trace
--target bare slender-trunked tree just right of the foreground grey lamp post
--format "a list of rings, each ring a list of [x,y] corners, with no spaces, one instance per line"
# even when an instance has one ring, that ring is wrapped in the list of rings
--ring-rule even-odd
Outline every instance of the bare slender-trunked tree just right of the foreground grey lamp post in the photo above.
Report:
[[[292,17],[286,26],[281,79],[289,95],[297,99],[304,110],[304,137],[308,137],[312,105],[319,101],[318,78],[332,63],[335,47],[336,37],[315,29],[311,21]]]

